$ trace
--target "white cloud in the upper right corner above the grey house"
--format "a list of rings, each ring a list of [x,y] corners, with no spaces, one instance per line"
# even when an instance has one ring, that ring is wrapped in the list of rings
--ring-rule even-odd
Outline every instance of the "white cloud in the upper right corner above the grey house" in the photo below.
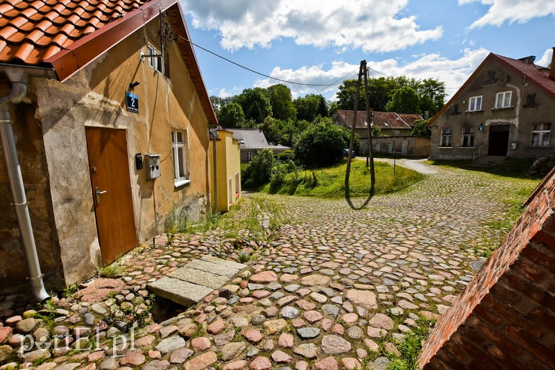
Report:
[[[555,15],[553,0],[459,0],[459,5],[480,2],[490,6],[486,15],[472,23],[468,28],[483,26],[501,26],[517,21],[526,23],[536,17]]]

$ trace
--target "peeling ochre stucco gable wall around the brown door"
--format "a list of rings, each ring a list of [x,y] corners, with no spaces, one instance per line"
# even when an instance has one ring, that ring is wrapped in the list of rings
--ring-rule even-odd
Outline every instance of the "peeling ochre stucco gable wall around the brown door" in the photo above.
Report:
[[[158,29],[157,20],[152,21],[64,83],[35,78],[30,85],[30,111],[44,137],[44,160],[40,163],[48,168],[48,177],[42,175],[44,184],[37,191],[50,189],[53,214],[50,222],[42,215],[41,218],[57,230],[61,254],[58,259],[65,283],[87,279],[101,265],[85,126],[126,130],[130,191],[139,241],[163,232],[167,215],[174,209],[186,208],[191,219],[206,211],[210,192],[207,118],[185,63],[175,44],[167,48],[169,79],[139,58],[140,50],[146,52],[147,37],[156,42],[152,37]],[[139,114],[127,112],[125,107],[125,91],[135,81],[140,82],[133,91],[139,96]],[[179,187],[174,186],[173,180],[172,129],[188,133],[187,170],[191,182]],[[36,136],[40,138],[40,132]],[[42,152],[42,148],[37,150]],[[146,180],[144,169],[135,168],[135,153],[160,154],[162,177],[155,180],[154,186],[152,180]],[[42,173],[46,173],[44,168]],[[40,171],[39,166],[29,173],[35,176]],[[48,229],[44,233],[52,234]],[[55,244],[47,243],[45,247],[53,251],[53,256]],[[47,263],[43,272],[48,274],[52,265]]]

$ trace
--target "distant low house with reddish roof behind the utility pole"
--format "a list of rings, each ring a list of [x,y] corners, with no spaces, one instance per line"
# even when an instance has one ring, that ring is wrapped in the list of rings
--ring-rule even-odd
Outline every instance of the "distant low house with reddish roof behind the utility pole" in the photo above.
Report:
[[[372,138],[375,155],[401,155],[402,157],[427,157],[429,154],[429,138],[411,136],[414,123],[422,119],[420,114],[395,112],[372,112],[370,125],[379,129],[379,134]],[[353,111],[339,109],[332,120],[336,125],[352,127]],[[359,155],[368,153],[368,119],[366,111],[357,112],[355,133],[359,135]]]

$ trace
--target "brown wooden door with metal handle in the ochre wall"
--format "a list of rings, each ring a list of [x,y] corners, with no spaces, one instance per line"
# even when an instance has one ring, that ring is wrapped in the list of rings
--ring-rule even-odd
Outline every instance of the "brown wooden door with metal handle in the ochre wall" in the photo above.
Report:
[[[102,263],[137,245],[126,131],[85,127]]]

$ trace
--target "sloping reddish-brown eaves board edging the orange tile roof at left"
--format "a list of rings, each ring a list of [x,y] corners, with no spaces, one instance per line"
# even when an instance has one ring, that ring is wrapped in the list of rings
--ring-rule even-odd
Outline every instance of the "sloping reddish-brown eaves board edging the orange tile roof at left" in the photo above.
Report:
[[[178,0],[155,0],[128,12],[126,15],[101,27],[70,44],[50,58],[44,60],[56,70],[58,79],[64,82],[102,53],[112,49],[123,39],[144,26]]]

